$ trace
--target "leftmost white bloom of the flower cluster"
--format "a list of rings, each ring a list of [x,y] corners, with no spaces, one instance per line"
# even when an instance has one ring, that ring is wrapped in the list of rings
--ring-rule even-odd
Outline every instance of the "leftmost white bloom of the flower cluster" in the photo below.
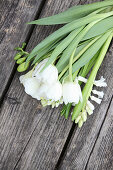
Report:
[[[40,100],[39,95],[39,87],[40,84],[38,80],[35,77],[27,78],[24,83],[25,92],[29,95],[31,95],[33,98],[36,98],[37,100]]]

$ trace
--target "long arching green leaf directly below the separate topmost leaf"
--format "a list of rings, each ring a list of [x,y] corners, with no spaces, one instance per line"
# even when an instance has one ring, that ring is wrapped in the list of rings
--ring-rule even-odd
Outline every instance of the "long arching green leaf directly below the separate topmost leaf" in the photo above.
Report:
[[[110,15],[110,14],[107,14]],[[59,30],[55,31],[53,34],[49,35],[46,39],[44,39],[41,43],[39,43],[29,54],[29,57],[27,58],[27,61],[30,61],[31,58],[33,58],[37,52],[43,48],[49,47],[52,43],[54,43],[58,38],[61,38],[63,36],[66,36],[68,33],[73,31],[76,28],[79,28],[81,26],[85,26],[86,24],[96,21],[98,19],[102,19],[103,17],[107,16],[106,14],[96,14],[94,16],[87,16],[79,20],[75,20]]]

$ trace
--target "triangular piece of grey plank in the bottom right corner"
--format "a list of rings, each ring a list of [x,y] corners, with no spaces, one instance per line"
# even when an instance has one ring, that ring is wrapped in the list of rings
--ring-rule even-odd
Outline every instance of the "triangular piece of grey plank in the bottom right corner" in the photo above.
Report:
[[[113,169],[113,99],[86,169]]]

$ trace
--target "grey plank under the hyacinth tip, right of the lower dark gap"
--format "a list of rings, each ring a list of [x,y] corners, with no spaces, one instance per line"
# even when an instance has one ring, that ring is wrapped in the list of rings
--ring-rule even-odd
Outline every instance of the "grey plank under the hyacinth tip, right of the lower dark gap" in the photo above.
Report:
[[[61,170],[84,170],[98,138],[99,130],[102,126],[113,94],[113,45],[109,49],[107,56],[99,70],[97,79],[103,76],[108,86],[103,88],[105,93],[101,105],[95,105],[93,115],[88,117],[87,122],[81,129],[75,129],[72,141],[69,143],[63,161],[59,169]],[[100,88],[99,88],[100,89]],[[102,90],[102,89],[101,89]],[[103,127],[104,128],[104,127]],[[106,143],[105,143],[106,145]],[[109,146],[108,146],[109,147]],[[109,157],[109,155],[108,155]],[[92,158],[93,161],[93,158]]]

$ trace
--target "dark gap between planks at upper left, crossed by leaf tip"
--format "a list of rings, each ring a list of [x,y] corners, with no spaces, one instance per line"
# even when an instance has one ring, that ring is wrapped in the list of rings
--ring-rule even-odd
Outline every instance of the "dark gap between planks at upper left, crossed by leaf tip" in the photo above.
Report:
[[[41,13],[41,11],[42,11],[42,9],[43,9],[43,6],[44,6],[45,2],[46,2],[46,0],[42,0],[41,4],[40,4],[40,6],[39,6],[39,10],[37,11],[34,20],[36,20],[36,19],[39,18],[40,13]],[[13,5],[13,4],[12,4],[12,5]],[[18,5],[18,4],[17,4],[17,5]],[[5,22],[5,21],[4,21],[4,22]],[[25,39],[26,47],[27,47],[27,45],[28,45],[28,42],[29,42],[29,40],[30,40],[30,37],[31,37],[31,35],[32,35],[32,32],[33,32],[34,28],[35,28],[35,25],[31,25],[31,28],[30,28],[30,30],[29,30],[29,32],[28,32],[28,35],[27,35],[26,39]],[[5,98],[5,95],[6,95],[8,89],[9,89],[9,87],[10,87],[10,85],[11,85],[11,82],[12,82],[12,80],[13,80],[13,78],[14,78],[14,75],[15,75],[15,73],[16,73],[16,70],[17,70],[17,64],[15,63],[14,66],[13,66],[13,70],[12,70],[12,72],[11,72],[11,74],[10,74],[9,80],[8,80],[8,82],[7,82],[7,85],[6,85],[6,87],[5,87],[5,89],[4,89],[3,93],[2,93],[1,98],[0,98],[0,108],[1,108],[1,106],[2,106],[2,103],[3,103],[3,100],[4,100],[4,98]]]

